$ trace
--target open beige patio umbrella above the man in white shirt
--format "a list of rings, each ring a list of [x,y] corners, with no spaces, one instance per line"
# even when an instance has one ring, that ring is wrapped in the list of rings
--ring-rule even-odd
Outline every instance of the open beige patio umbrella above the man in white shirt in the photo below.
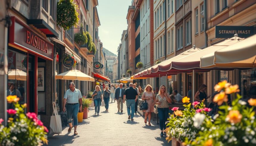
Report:
[[[55,76],[55,79],[62,80],[79,80],[79,81],[94,81],[94,78],[88,76],[85,73],[82,73],[79,70],[69,70],[65,73],[60,73]]]

